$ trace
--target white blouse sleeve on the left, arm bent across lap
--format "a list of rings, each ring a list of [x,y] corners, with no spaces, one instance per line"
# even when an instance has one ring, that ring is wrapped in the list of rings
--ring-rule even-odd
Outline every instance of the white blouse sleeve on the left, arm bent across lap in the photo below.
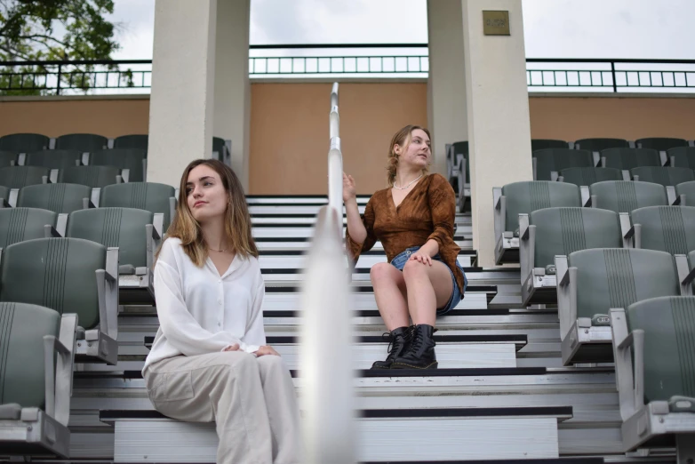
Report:
[[[159,325],[166,340],[182,354],[205,355],[236,343],[244,351],[248,348],[229,332],[212,333],[198,324],[184,302],[178,270],[161,259],[155,266],[154,286]]]

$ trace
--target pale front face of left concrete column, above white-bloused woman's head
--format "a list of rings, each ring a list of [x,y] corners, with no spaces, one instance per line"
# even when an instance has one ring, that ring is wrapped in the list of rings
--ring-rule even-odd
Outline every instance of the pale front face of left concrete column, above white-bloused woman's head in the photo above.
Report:
[[[179,186],[212,154],[217,0],[156,0],[148,181]]]

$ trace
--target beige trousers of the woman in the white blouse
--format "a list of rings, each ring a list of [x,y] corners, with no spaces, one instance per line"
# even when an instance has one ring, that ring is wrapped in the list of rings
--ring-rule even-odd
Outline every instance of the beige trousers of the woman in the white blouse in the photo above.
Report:
[[[220,464],[298,464],[300,411],[280,356],[243,351],[176,356],[148,366],[157,411],[178,420],[216,422]]]

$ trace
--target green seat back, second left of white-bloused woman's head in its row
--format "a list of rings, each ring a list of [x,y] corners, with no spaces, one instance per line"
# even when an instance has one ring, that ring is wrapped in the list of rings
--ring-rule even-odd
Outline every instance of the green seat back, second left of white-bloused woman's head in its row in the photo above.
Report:
[[[90,207],[92,188],[78,184],[40,184],[20,189],[17,206],[68,214]],[[64,229],[63,229],[64,230]]]

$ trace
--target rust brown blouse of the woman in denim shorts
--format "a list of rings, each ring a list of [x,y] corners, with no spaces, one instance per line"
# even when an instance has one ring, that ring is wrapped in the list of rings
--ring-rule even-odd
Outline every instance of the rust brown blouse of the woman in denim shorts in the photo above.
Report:
[[[456,196],[453,188],[440,174],[429,174],[412,188],[395,207],[391,189],[384,188],[371,196],[362,222],[367,229],[363,244],[356,243],[349,232],[346,246],[353,260],[368,252],[377,240],[384,245],[388,262],[411,246],[422,246],[430,238],[439,244],[439,255],[456,276],[463,294],[463,273],[456,267],[459,245],[453,241],[456,219]]]

